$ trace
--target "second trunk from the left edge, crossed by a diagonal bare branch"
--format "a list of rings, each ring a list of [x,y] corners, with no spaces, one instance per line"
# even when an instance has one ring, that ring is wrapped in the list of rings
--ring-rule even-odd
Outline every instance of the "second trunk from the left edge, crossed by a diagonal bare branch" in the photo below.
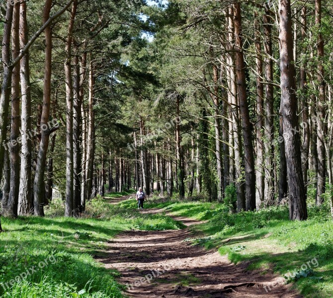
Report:
[[[11,29],[12,60],[19,54],[19,17],[20,2],[16,1],[13,10],[13,20]],[[10,159],[10,190],[7,203],[6,215],[17,217],[18,192],[20,183],[20,157],[19,144],[17,138],[20,136],[20,65],[16,64],[11,76],[11,126],[9,159]]]

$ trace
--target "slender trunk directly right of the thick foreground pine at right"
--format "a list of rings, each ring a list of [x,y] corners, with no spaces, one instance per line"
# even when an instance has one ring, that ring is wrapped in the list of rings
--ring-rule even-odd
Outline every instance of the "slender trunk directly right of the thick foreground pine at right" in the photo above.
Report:
[[[301,35],[302,40],[307,38],[307,7],[302,7],[301,13]],[[302,91],[302,118],[303,118],[303,146],[302,146],[302,172],[305,184],[305,192],[307,192],[308,182],[308,169],[309,169],[309,149],[310,149],[310,123],[309,123],[309,105],[307,94],[307,76],[306,76],[306,63],[301,66],[300,71],[300,85]]]

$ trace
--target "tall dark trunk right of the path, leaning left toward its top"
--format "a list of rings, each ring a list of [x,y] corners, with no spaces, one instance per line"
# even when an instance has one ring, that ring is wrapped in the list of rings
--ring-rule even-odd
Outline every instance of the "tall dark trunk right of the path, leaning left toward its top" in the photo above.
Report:
[[[247,99],[240,2],[234,4],[237,85],[242,119],[245,157],[246,210],[255,209],[255,169],[249,105]]]

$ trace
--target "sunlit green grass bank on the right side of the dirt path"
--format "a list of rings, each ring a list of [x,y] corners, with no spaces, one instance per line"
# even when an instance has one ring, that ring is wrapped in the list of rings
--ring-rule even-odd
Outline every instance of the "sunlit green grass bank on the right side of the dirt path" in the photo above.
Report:
[[[289,221],[287,207],[230,214],[222,204],[160,199],[152,200],[147,207],[206,220],[205,224],[193,226],[193,238],[186,240],[207,249],[217,247],[235,264],[247,261],[249,270],[260,270],[262,274],[272,270],[284,276],[301,270],[305,264],[314,272],[295,281],[301,294],[333,297],[333,221],[328,206],[319,209],[310,205],[305,222]]]

